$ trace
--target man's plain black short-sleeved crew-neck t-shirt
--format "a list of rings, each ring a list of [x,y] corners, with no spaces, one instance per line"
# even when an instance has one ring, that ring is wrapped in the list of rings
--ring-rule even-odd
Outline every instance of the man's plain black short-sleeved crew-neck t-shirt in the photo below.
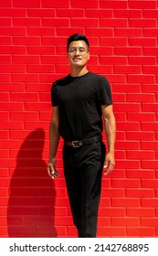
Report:
[[[59,133],[65,141],[91,138],[102,132],[101,105],[110,105],[109,81],[88,72],[57,80],[51,88],[52,105],[59,107]]]

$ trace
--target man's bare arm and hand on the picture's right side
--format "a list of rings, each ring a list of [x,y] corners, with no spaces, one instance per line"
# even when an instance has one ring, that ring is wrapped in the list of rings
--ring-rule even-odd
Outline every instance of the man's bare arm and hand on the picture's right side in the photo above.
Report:
[[[108,170],[105,171],[104,175],[108,175],[113,170],[115,165],[115,138],[116,138],[116,122],[115,116],[113,114],[112,104],[111,105],[102,105],[101,106],[102,116],[105,125],[105,133],[108,144],[108,153],[105,158],[104,168],[108,167]]]

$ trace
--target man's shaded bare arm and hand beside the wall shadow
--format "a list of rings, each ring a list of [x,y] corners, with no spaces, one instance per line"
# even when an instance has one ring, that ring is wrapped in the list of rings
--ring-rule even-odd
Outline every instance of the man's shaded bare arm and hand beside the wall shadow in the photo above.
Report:
[[[59,132],[58,132],[58,123],[59,123],[59,112],[58,106],[53,108],[52,117],[49,125],[49,160],[47,165],[48,175],[52,178],[58,176],[56,170],[56,154],[58,150],[59,143]]]

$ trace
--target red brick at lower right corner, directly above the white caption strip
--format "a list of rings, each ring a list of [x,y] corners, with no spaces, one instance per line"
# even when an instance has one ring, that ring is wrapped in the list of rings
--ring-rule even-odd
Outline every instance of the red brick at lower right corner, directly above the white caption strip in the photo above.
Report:
[[[139,237],[139,238],[155,237],[155,229],[146,228],[146,227],[136,227],[136,228],[127,227],[127,236]]]

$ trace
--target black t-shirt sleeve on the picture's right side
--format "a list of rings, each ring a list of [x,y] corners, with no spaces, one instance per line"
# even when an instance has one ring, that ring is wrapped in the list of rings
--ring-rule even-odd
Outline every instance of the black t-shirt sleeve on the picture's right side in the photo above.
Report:
[[[98,85],[98,101],[100,105],[111,105],[111,85],[105,77],[100,78]]]

